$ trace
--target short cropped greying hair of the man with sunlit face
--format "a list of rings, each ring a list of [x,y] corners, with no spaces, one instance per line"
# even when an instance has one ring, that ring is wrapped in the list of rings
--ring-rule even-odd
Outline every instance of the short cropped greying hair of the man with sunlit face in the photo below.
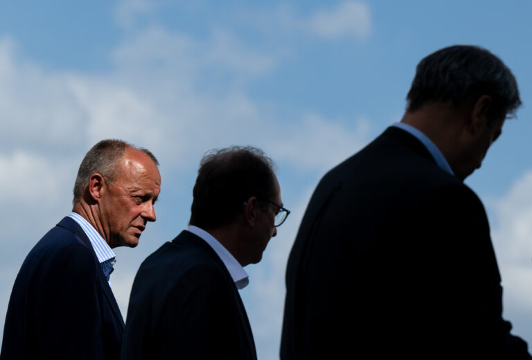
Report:
[[[150,159],[152,159],[156,165],[159,165],[159,161],[157,161],[154,154],[143,147],[137,148],[125,141],[116,139],[99,141],[96,145],[91,147],[91,150],[85,154],[85,157],[81,161],[78,176],[76,177],[76,183],[74,183],[73,204],[76,204],[76,201],[82,197],[92,174],[98,173],[102,175],[107,183],[116,181],[116,178],[118,177],[118,167],[116,166],[116,163],[122,159],[127,147],[140,150],[150,156]]]

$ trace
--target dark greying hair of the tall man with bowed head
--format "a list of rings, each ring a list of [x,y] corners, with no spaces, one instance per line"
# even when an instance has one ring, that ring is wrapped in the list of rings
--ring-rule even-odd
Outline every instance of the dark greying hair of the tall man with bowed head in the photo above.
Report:
[[[517,82],[497,56],[479,46],[449,46],[419,62],[407,95],[408,110],[448,100],[459,107],[484,94],[492,97],[493,114],[513,115],[521,105]]]

